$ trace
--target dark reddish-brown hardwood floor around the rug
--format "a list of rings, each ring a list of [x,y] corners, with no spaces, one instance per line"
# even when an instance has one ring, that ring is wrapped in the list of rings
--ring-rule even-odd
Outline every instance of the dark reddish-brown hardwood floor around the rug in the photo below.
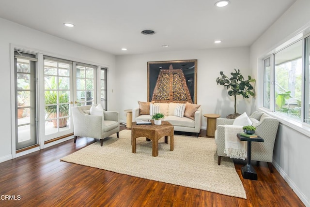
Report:
[[[200,136],[205,137],[205,130]],[[74,144],[72,139],[0,163],[0,206],[304,206],[276,169],[269,173],[266,163],[256,166],[254,162],[258,173],[258,180],[254,181],[242,178],[245,162],[234,161],[247,193],[247,199],[242,199],[60,162],[63,156],[95,141],[82,137]],[[13,200],[5,199],[8,196]]]

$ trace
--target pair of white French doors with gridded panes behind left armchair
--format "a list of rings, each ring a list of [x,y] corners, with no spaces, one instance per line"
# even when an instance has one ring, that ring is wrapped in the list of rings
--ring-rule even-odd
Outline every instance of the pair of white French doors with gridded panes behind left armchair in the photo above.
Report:
[[[95,66],[44,58],[45,141],[73,133],[70,109],[95,103]]]

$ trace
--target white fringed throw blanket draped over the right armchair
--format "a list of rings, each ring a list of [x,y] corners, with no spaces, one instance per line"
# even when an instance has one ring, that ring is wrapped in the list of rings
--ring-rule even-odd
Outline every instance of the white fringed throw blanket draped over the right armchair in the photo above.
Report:
[[[242,133],[242,126],[225,125],[224,153],[230,158],[243,159],[247,157],[246,142],[240,141],[237,133]]]

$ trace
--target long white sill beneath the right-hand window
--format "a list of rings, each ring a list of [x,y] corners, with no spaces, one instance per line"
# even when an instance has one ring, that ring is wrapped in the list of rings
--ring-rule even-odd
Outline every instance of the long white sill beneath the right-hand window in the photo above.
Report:
[[[264,108],[259,108],[258,111],[264,112],[271,117],[279,119],[279,122],[282,123],[283,125],[290,127],[291,129],[299,133],[302,133],[305,136],[310,138],[310,125],[309,124],[297,122],[293,119],[283,117],[277,113],[270,112]]]

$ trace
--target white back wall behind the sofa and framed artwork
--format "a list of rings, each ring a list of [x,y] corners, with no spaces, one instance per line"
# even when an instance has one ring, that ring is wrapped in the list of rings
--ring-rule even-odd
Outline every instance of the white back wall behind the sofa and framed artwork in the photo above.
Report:
[[[233,97],[227,94],[223,86],[216,83],[219,72],[230,77],[233,69],[239,69],[246,77],[250,74],[249,48],[222,48],[193,51],[151,53],[116,57],[119,73],[117,94],[121,120],[126,120],[125,109],[138,107],[137,101],[147,101],[147,62],[165,60],[197,59],[197,103],[202,105],[202,114],[217,113],[225,117],[232,114]],[[252,99],[237,99],[237,112],[250,112]],[[202,128],[206,128],[206,119],[202,117]]]

